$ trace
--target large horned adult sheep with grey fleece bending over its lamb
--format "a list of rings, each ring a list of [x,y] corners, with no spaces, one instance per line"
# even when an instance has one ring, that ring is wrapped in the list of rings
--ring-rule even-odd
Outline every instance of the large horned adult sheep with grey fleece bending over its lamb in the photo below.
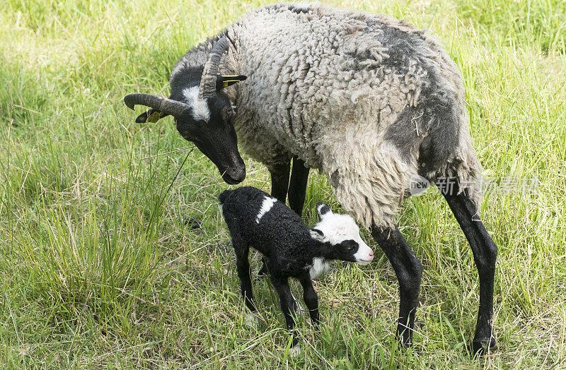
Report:
[[[473,350],[495,346],[497,247],[478,215],[481,165],[462,77],[423,30],[320,5],[265,6],[187,52],[173,68],[168,99],[132,94],[125,102],[151,107],[138,122],[172,115],[179,133],[229,184],[246,176],[239,141],[270,170],[272,195],[284,202],[289,193],[297,213],[308,169],[325,172],[342,207],[371,229],[393,265],[404,345],[412,342],[422,265],[395,214],[414,179],[437,186],[449,181],[439,189],[472,247],[480,278]]]

